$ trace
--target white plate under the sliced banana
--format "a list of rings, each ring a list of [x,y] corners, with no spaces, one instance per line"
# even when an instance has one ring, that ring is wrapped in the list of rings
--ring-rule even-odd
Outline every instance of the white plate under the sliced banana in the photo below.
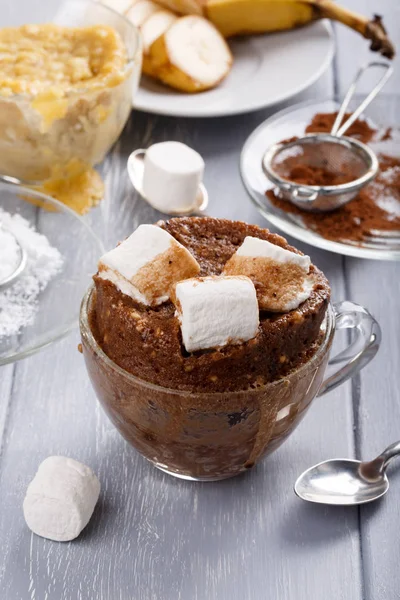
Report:
[[[230,42],[232,70],[217,88],[182,94],[147,77],[134,108],[174,117],[220,117],[283,102],[313,84],[329,67],[335,51],[329,22],[292,31],[238,38]]]

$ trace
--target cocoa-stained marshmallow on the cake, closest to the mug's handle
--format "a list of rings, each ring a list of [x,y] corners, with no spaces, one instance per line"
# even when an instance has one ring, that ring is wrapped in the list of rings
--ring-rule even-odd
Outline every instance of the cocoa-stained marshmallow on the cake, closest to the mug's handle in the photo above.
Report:
[[[248,236],[226,263],[224,273],[250,277],[261,310],[287,312],[311,294],[310,265],[309,256]]]

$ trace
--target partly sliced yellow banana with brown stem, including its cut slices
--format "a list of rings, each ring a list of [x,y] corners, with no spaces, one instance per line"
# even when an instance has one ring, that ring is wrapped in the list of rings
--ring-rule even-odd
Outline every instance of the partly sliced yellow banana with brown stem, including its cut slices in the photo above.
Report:
[[[395,54],[381,17],[368,20],[332,0],[101,1],[140,29],[143,72],[184,92],[215,87],[229,73],[232,55],[221,34],[283,31],[328,18],[369,39],[383,56]]]

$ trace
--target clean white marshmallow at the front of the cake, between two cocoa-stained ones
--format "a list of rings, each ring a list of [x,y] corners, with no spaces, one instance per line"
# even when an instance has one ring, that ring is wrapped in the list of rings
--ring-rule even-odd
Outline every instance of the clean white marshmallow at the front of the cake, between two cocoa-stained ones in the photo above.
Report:
[[[181,281],[174,302],[187,352],[240,344],[257,335],[257,296],[248,277]]]

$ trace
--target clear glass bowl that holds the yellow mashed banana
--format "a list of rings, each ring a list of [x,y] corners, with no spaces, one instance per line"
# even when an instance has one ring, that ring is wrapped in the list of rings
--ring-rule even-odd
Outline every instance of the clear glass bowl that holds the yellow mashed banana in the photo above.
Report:
[[[58,115],[54,118],[42,118],[34,96],[0,96],[0,173],[29,184],[49,178],[54,170],[68,175],[101,162],[130,115],[141,72],[139,32],[127,19],[92,0],[54,4],[46,22],[112,26],[126,46],[128,60],[117,83],[111,74],[96,87],[85,89],[82,84],[61,100],[46,100],[45,114]],[[22,12],[24,24],[36,23],[33,9]]]

